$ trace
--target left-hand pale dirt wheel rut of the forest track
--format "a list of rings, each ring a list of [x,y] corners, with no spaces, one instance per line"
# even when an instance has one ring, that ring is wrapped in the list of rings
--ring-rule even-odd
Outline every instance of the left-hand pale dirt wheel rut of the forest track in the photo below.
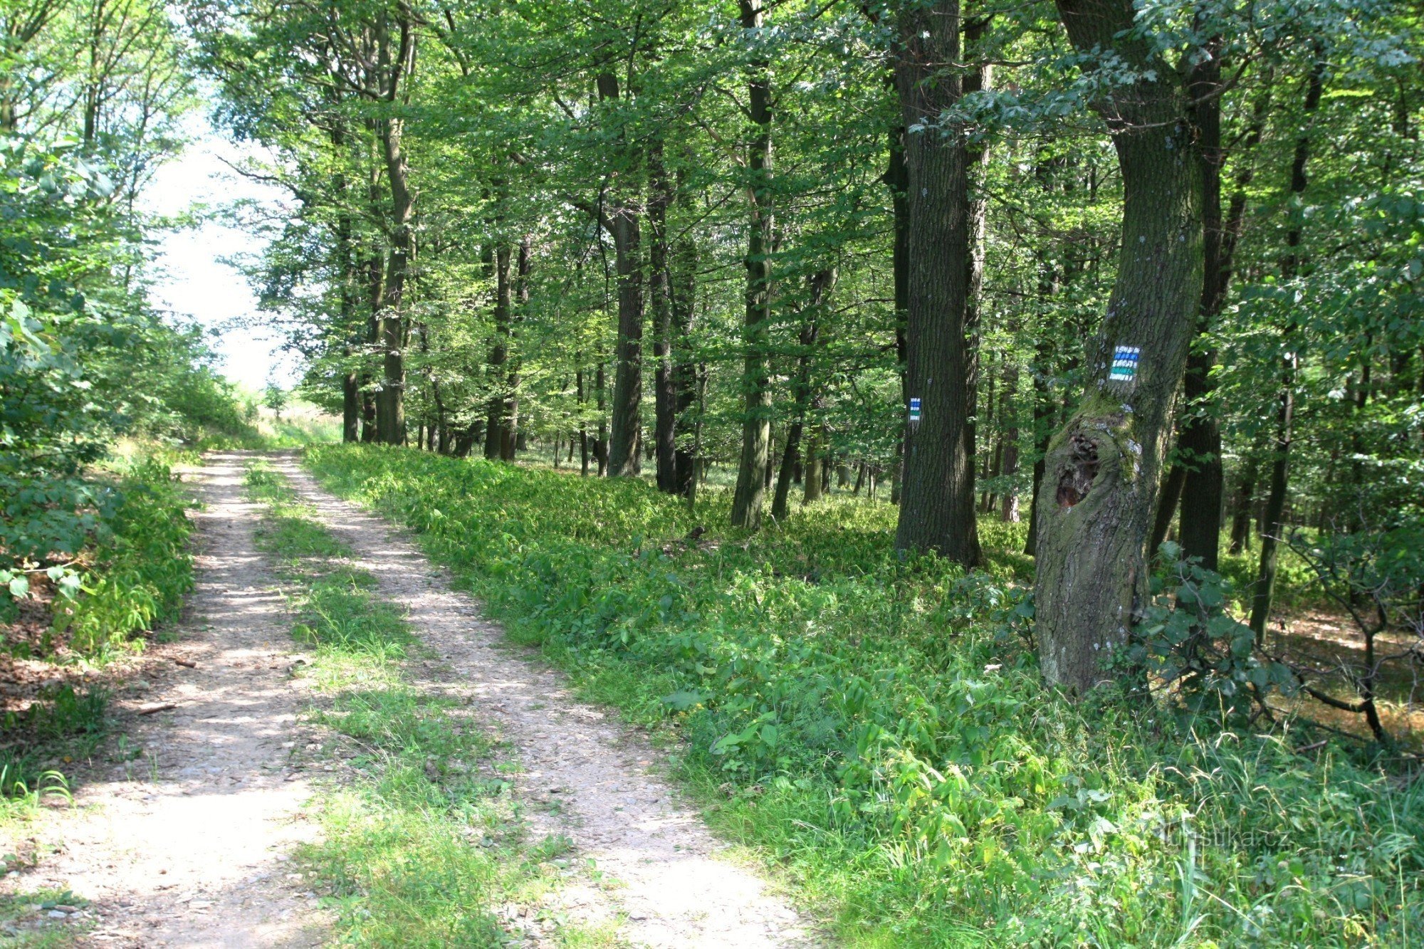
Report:
[[[185,474],[204,502],[192,513],[197,587],[177,641],[152,645],[145,677],[115,695],[121,737],[107,759],[81,774],[74,808],[0,841],[41,856],[7,891],[88,901],[71,921],[80,945],[328,940],[325,912],[288,875],[289,852],[315,835],[289,751],[303,684],[289,674],[282,593],[253,543],[261,507],[244,500],[246,457],[209,455]]]

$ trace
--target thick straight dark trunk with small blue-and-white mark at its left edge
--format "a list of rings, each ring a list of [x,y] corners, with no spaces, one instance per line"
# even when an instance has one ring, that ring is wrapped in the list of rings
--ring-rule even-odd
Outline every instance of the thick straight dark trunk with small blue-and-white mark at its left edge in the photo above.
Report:
[[[938,128],[961,94],[960,4],[938,0],[901,11],[896,84],[906,128],[909,301],[906,379],[920,399],[901,469],[896,547],[934,550],[965,566],[980,560],[974,520],[973,343],[967,326],[973,272],[963,135]]]

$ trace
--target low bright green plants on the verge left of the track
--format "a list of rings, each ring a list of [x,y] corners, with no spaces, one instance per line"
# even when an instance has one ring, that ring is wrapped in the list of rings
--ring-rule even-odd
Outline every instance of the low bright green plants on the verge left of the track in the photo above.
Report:
[[[134,633],[152,630],[192,588],[188,497],[172,472],[158,460],[138,460],[117,484],[115,497],[78,593],[54,604],[54,633],[88,655],[103,655]]]

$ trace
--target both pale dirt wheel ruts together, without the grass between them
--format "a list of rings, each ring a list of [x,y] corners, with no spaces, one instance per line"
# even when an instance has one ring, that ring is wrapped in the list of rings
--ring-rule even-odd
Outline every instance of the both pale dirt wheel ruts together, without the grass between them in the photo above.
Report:
[[[244,494],[256,457],[212,455],[189,474],[204,503],[198,586],[174,641],[151,647],[147,680],[118,693],[120,747],[77,772],[73,807],[0,826],[0,854],[23,868],[0,879],[10,909],[0,916],[23,945],[335,938],[335,901],[312,892],[323,886],[302,854],[322,834],[323,799],[357,772],[322,755],[310,714],[320,685],[302,674],[310,660],[290,638],[288,577],[259,544],[263,506]],[[506,645],[478,604],[382,520],[322,492],[290,456],[266,459],[350,551],[350,566],[375,577],[375,593],[406,614],[419,643],[403,663],[412,688],[461,707],[500,748],[518,831],[577,858],[557,861],[574,869],[544,888],[543,905],[486,908],[511,939],[561,945],[577,942],[562,933],[592,926],[611,933],[600,945],[820,942],[723,852],[656,774],[662,755],[644,735]],[[560,923],[540,922],[550,919]]]

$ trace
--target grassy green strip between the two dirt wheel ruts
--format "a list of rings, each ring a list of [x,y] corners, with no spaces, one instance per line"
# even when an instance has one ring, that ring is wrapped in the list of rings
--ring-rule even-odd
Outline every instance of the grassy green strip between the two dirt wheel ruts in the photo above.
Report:
[[[322,839],[299,859],[336,912],[342,945],[503,946],[504,903],[534,902],[567,872],[558,841],[524,839],[508,774],[457,701],[416,688],[406,663],[420,655],[404,616],[376,593],[370,573],[263,465],[246,476],[266,506],[259,547],[281,564],[310,663],[310,724],[333,735],[323,754],[349,779],[316,799]],[[607,945],[600,933],[561,933]]]

